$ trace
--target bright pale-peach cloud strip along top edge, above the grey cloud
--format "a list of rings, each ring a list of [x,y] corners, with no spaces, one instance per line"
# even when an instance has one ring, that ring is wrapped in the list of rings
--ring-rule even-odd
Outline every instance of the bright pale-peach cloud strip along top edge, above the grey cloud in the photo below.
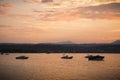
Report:
[[[48,6],[59,6],[59,7],[80,7],[80,6],[92,6],[92,5],[100,5],[100,4],[107,4],[107,3],[113,3],[113,2],[120,2],[120,0],[23,0],[26,3],[35,3],[35,4],[41,4],[41,3],[48,3],[44,7]]]

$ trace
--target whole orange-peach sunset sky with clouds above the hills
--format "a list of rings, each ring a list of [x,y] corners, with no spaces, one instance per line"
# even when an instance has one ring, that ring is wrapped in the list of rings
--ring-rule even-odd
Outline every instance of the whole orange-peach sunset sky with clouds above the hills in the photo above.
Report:
[[[120,0],[0,0],[0,43],[120,40]]]

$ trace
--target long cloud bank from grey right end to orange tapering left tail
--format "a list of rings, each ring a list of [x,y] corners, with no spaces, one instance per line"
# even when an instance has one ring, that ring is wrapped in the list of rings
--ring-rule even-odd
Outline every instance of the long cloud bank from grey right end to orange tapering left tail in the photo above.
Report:
[[[97,6],[57,9],[56,11],[33,11],[39,14],[40,20],[74,20],[74,19],[120,19],[120,3]]]

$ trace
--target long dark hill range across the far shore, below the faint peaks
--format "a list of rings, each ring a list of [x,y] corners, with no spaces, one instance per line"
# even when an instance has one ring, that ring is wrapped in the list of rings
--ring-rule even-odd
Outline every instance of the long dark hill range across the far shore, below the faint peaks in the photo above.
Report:
[[[120,44],[0,44],[3,53],[120,53]]]

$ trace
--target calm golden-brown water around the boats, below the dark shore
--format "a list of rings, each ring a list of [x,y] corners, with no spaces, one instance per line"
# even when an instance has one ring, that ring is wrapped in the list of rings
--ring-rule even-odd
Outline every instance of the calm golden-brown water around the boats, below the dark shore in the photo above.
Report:
[[[101,54],[104,61],[88,61],[87,54],[22,54],[28,60],[16,60],[21,54],[0,55],[0,80],[120,80],[120,54]]]

